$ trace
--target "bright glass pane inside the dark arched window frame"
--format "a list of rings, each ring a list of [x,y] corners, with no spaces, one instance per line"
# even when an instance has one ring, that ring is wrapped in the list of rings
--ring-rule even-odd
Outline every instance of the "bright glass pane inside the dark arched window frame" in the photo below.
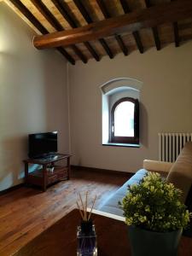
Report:
[[[114,111],[114,136],[134,137],[133,102],[121,102]]]

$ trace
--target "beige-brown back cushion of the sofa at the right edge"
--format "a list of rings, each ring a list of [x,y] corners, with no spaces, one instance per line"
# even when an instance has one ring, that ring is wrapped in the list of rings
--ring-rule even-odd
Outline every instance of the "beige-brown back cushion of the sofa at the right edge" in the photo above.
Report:
[[[168,176],[168,183],[173,183],[177,189],[183,191],[181,201],[184,203],[192,184],[192,143],[185,143],[181,153],[177,157]]]

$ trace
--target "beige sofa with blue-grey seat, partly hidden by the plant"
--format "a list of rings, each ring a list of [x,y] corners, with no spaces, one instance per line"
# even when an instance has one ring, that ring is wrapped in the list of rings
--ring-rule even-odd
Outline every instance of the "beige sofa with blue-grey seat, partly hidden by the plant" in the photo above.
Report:
[[[185,143],[182,152],[174,163],[144,160],[143,169],[137,171],[107,201],[104,201],[99,210],[123,216],[118,202],[127,193],[127,186],[139,183],[148,171],[159,172],[162,177],[166,177],[168,183],[173,183],[178,189],[181,189],[183,191],[181,201],[192,211],[192,189],[190,189],[192,185],[192,143]]]

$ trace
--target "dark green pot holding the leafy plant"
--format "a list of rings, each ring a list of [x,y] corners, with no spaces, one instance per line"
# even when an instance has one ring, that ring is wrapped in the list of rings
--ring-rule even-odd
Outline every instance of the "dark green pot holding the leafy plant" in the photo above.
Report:
[[[182,230],[161,233],[129,226],[128,233],[131,256],[177,256]]]

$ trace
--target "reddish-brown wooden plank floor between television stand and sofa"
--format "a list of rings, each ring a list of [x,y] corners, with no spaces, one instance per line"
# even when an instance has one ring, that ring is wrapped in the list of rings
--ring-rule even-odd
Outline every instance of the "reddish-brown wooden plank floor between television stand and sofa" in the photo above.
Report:
[[[0,196],[0,255],[15,253],[51,224],[76,207],[78,193],[97,195],[98,208],[127,180],[116,173],[73,171],[69,181],[56,183],[46,192],[22,187]]]

